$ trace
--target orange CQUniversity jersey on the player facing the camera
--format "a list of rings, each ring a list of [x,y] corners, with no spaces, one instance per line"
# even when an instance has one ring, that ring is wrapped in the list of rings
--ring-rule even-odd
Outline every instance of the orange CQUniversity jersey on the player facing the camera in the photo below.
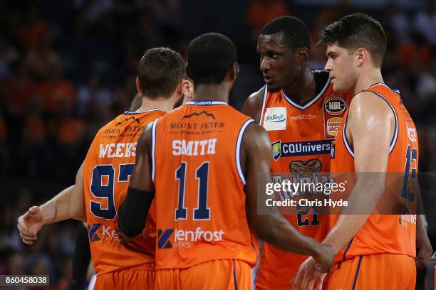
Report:
[[[330,152],[343,115],[351,100],[349,94],[333,92],[328,73],[314,70],[318,95],[303,106],[296,104],[282,90],[268,92],[265,89],[260,124],[269,134],[274,161],[271,164],[272,179],[276,183],[290,180],[292,183],[329,182]],[[323,193],[282,192],[277,200],[319,198]],[[291,211],[291,213],[289,212]],[[316,208],[297,206],[284,214],[300,232],[320,241],[327,233],[326,215],[318,215]],[[282,252],[264,243],[261,251],[256,287],[259,289],[289,289],[301,262],[299,254]]]

